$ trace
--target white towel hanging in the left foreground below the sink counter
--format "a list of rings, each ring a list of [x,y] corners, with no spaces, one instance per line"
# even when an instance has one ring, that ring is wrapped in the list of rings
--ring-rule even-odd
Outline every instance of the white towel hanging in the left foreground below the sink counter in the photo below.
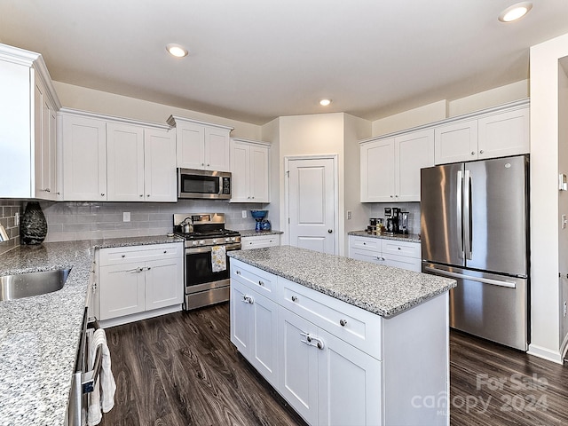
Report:
[[[95,354],[97,353],[97,348],[99,346],[102,348],[101,367],[99,379],[97,380],[97,383],[95,383],[94,390],[89,394],[88,426],[95,426],[101,421],[101,406],[104,413],[108,413],[114,406],[114,391],[116,390],[116,383],[114,383],[113,372],[110,369],[110,351],[106,344],[105,330],[102,328],[96,330],[92,335],[89,347],[89,368],[91,370],[93,368]]]

